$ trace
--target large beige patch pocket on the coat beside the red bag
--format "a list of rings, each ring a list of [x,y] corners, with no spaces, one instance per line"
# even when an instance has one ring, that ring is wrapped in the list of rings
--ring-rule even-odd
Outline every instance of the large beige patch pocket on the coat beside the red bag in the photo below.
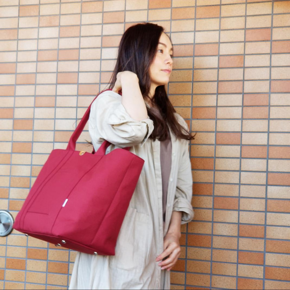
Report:
[[[115,256],[110,257],[110,267],[142,272],[148,264],[152,235],[150,216],[129,207],[118,236]]]

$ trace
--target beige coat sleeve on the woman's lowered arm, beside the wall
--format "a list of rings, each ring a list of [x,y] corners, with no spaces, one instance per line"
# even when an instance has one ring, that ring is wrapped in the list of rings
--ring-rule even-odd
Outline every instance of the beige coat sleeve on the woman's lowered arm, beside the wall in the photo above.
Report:
[[[182,125],[187,124],[183,120]],[[192,176],[192,166],[190,162],[188,142],[182,140],[183,143],[183,153],[179,163],[178,177],[177,177],[177,187],[175,193],[175,199],[173,204],[173,211],[182,211],[182,224],[190,222],[193,219],[193,206],[192,206],[192,196],[193,196],[193,176]]]

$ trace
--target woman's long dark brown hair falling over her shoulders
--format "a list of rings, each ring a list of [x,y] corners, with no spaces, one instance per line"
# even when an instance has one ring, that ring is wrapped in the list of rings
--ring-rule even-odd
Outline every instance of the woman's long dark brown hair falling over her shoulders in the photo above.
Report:
[[[120,41],[110,89],[114,87],[119,72],[131,71],[139,79],[142,96],[148,97],[151,85],[149,68],[155,58],[162,32],[164,32],[164,28],[153,23],[139,23],[125,31]],[[151,139],[166,140],[169,136],[167,125],[176,137],[186,140],[194,139],[194,136],[176,119],[174,114],[176,110],[167,96],[164,85],[156,88],[155,94],[152,96],[152,103],[159,109],[162,117],[160,118],[154,109],[147,107],[148,116],[154,123],[154,130],[150,135]]]

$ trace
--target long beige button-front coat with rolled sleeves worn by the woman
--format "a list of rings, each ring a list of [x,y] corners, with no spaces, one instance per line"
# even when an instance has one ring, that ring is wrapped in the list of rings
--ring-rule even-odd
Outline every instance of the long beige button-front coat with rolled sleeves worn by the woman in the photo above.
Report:
[[[104,139],[118,147],[132,146],[130,151],[145,164],[118,236],[116,255],[78,253],[70,289],[170,289],[170,272],[161,271],[155,259],[163,252],[172,211],[183,212],[182,223],[193,218],[192,172],[188,141],[171,133],[172,166],[163,228],[160,142],[148,139],[152,131],[153,121],[132,119],[120,95],[105,91],[94,101],[89,132],[95,150]]]

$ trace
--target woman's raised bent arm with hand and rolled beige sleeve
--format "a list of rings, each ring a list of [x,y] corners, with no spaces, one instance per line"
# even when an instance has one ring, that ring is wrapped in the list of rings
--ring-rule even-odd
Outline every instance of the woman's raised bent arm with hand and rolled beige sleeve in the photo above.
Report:
[[[95,148],[103,140],[119,147],[142,145],[153,129],[138,78],[132,72],[119,73],[113,90],[102,92],[92,103],[89,131]]]

